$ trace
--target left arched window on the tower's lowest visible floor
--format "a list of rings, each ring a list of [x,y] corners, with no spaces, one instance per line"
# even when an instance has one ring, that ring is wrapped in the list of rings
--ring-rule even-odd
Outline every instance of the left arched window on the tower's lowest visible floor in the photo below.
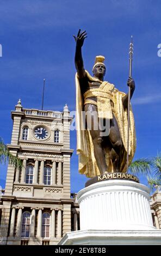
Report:
[[[22,228],[21,228],[21,237],[29,237],[30,231],[30,212],[25,211],[22,215]]]

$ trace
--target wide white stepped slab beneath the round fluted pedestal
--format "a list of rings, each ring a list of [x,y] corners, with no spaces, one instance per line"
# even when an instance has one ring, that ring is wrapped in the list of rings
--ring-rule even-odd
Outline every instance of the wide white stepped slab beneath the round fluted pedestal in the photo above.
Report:
[[[58,245],[161,245],[161,230],[79,230]]]

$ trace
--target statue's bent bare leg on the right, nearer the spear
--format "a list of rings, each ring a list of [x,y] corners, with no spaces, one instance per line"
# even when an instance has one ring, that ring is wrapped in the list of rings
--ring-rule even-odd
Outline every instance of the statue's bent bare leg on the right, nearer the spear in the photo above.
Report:
[[[109,139],[112,144],[111,157],[113,162],[113,172],[120,172],[122,142],[119,126],[114,114],[113,119],[110,120]]]

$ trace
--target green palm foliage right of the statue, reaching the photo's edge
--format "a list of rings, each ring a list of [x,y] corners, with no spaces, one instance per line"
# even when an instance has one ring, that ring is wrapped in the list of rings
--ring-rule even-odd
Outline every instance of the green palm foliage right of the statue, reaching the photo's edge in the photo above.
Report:
[[[152,159],[139,159],[135,160],[129,166],[129,170],[133,174],[146,175],[148,186],[151,191],[161,186],[161,153]]]

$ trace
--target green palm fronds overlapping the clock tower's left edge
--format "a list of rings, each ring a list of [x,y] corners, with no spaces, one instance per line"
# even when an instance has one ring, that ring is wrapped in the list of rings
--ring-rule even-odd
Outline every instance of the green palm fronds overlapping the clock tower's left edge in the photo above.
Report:
[[[22,160],[18,159],[17,156],[12,155],[7,145],[5,145],[2,138],[0,138],[0,163],[6,164],[7,162],[13,164],[13,166],[18,169],[22,168]]]

